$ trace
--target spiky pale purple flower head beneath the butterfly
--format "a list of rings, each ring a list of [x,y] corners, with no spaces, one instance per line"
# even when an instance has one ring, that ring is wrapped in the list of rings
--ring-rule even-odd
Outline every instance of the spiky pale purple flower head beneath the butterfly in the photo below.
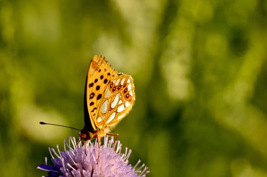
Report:
[[[121,144],[116,141],[113,147],[113,137],[108,140],[108,137],[104,137],[104,145],[100,148],[100,157],[98,161],[98,143],[91,143],[87,141],[86,154],[81,142],[76,145],[75,138],[69,138],[67,143],[64,140],[64,151],[59,150],[57,145],[57,151],[53,148],[49,148],[52,156],[52,162],[54,166],[41,164],[37,166],[37,169],[49,171],[48,177],[57,176],[146,176],[148,167],[145,164],[141,165],[138,169],[137,166],[141,162],[137,162],[135,166],[129,164],[128,158],[131,150],[125,148],[125,153],[121,153]]]

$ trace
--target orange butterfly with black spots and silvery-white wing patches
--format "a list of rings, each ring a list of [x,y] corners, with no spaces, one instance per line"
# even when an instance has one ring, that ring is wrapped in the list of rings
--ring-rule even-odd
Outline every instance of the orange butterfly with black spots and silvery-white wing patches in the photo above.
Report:
[[[135,86],[130,75],[118,73],[105,57],[93,57],[88,67],[84,89],[84,127],[80,141],[97,139],[98,162],[101,138],[114,128],[131,110],[136,100]],[[85,150],[86,152],[86,150]]]

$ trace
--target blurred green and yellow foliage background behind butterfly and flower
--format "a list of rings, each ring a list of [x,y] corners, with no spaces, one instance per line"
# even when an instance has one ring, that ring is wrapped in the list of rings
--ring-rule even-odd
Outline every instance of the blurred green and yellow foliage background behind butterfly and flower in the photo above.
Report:
[[[148,176],[267,176],[267,1],[0,0],[0,175],[83,127],[94,55],[132,75],[112,131]],[[49,160],[49,163],[50,160]]]

